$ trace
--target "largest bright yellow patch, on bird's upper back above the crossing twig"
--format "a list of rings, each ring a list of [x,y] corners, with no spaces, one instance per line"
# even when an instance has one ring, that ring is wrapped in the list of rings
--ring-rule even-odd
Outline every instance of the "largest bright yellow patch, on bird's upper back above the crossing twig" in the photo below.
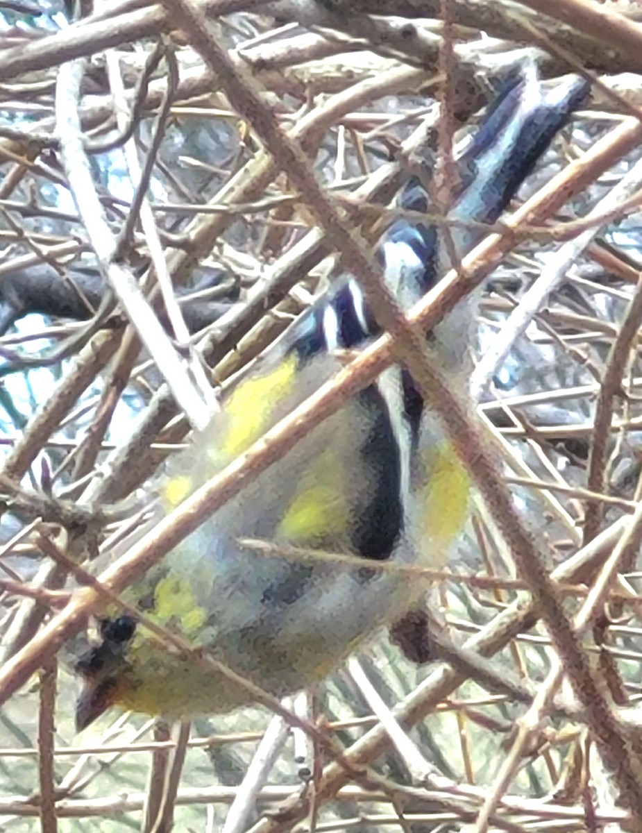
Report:
[[[224,455],[241,454],[266,431],[274,406],[291,392],[295,378],[296,356],[291,356],[271,372],[241,382],[224,407],[228,425],[218,446]]]

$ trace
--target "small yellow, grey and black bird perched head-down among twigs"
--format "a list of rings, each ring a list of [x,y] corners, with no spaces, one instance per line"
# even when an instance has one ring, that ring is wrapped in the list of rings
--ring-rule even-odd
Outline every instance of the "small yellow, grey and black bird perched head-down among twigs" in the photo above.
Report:
[[[412,178],[401,215],[376,250],[388,286],[408,309],[495,222],[570,114],[580,77],[511,78],[456,159],[442,232],[424,222],[430,197]],[[419,217],[419,219],[417,219]],[[450,251],[446,251],[450,248]],[[426,346],[465,388],[475,298],[426,333]],[[342,276],[298,317],[221,399],[221,410],[159,477],[148,525],[172,511],[266,430],[331,379],[380,333],[354,277]],[[212,515],[130,587],[127,609],[106,608],[77,656],[76,724],[114,706],[167,720],[224,713],[256,701],[250,681],[281,697],[324,679],[380,628],[426,658],[421,610],[428,589],[413,566],[439,567],[469,514],[471,484],[444,428],[401,367],[383,372]],[[145,526],[141,531],[147,531]],[[323,554],[324,557],[319,556]],[[394,567],[399,566],[399,569]],[[239,681],[176,651],[154,623],[207,651]]]

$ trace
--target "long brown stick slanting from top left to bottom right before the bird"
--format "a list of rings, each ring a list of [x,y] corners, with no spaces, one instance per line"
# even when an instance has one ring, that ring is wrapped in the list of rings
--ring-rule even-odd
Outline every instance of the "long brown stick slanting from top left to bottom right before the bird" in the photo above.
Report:
[[[341,252],[343,262],[366,292],[366,297],[380,323],[396,336],[393,352],[408,368],[426,402],[435,406],[442,426],[450,437],[457,456],[470,471],[475,486],[495,517],[497,526],[509,544],[515,564],[528,581],[540,606],[541,616],[550,629],[551,639],[569,671],[570,681],[585,706],[587,723],[610,761],[618,761],[615,780],[622,798],[630,808],[634,828],[642,831],[642,761],[631,751],[610,705],[605,701],[599,681],[580,641],[565,616],[560,594],[545,570],[545,560],[534,538],[515,515],[510,492],[495,469],[493,452],[481,441],[476,426],[465,414],[465,404],[453,395],[448,384],[435,370],[427,356],[425,338],[419,328],[407,321],[394,297],[381,281],[374,258],[366,253],[366,243],[350,232],[345,221],[310,171],[301,148],[289,142],[275,124],[270,108],[255,92],[251,77],[237,73],[226,52],[202,28],[189,0],[163,0],[167,9],[178,16],[191,39],[192,46],[217,72],[232,106],[252,123],[275,161],[306,197],[318,221]]]

